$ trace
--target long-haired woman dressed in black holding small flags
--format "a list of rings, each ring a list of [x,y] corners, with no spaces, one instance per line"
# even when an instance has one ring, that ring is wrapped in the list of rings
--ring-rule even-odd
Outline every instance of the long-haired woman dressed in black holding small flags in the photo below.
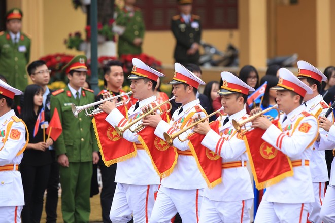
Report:
[[[20,165],[25,203],[21,213],[23,222],[40,222],[41,220],[43,196],[48,185],[52,163],[49,146],[53,144],[53,140],[47,139],[42,129],[46,127],[43,123],[40,123],[34,136],[34,127],[42,107],[42,87],[35,84],[28,85],[24,91],[24,102],[20,115],[27,125],[29,134],[29,143]],[[45,119],[50,120],[49,117]],[[44,141],[44,139],[47,140]]]

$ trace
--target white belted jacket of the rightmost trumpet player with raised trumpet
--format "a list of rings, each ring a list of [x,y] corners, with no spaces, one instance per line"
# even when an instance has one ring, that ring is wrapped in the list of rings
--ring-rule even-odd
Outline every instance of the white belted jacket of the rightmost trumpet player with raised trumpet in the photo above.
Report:
[[[262,136],[263,140],[282,151],[291,161],[300,160],[302,163],[301,166],[293,167],[292,177],[287,177],[266,189],[262,199],[268,202],[290,204],[314,202],[308,161],[311,159],[318,123],[313,115],[309,115],[304,110],[305,105],[300,105],[287,114],[284,122],[285,114],[281,115],[279,123],[283,131],[271,125]]]

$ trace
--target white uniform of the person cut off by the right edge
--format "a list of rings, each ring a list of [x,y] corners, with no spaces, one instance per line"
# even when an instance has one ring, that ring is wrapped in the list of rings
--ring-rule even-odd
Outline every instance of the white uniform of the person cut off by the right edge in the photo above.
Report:
[[[320,142],[315,143],[316,150],[332,150],[335,148],[335,126],[332,125],[327,135],[320,135]],[[335,222],[335,159],[332,160],[329,185],[324,195],[320,211],[324,223]]]

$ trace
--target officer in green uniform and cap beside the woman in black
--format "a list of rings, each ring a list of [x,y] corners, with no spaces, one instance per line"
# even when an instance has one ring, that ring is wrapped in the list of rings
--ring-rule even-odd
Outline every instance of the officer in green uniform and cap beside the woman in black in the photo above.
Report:
[[[96,164],[99,160],[98,146],[92,118],[84,113],[75,118],[71,109],[72,103],[81,106],[94,102],[93,91],[82,87],[87,75],[86,56],[74,57],[63,70],[69,84],[51,96],[51,115],[57,108],[63,129],[54,143],[62,188],[61,208],[64,222],[88,222],[92,161]]]

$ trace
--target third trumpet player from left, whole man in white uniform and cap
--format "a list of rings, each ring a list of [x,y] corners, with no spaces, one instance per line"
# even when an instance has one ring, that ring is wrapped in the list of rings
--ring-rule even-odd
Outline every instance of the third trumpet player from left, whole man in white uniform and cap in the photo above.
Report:
[[[208,122],[200,122],[193,129],[206,135],[202,145],[222,158],[222,182],[213,189],[205,189],[199,222],[250,222],[254,195],[246,168],[248,156],[245,143],[231,121],[248,118],[244,104],[249,91],[255,89],[229,72],[222,72],[221,78],[223,85],[218,94],[226,115],[220,120],[219,134]]]

